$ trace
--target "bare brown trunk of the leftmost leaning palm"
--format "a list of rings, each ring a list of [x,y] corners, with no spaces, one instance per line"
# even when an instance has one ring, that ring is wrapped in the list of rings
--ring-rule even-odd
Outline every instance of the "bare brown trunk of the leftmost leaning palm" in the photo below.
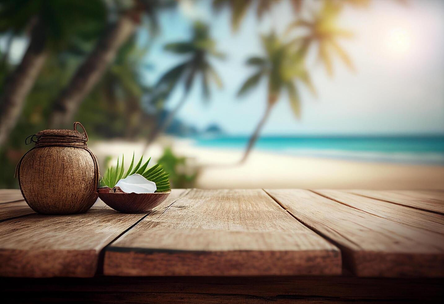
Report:
[[[0,96],[0,145],[6,143],[9,134],[16,126],[24,100],[48,57],[45,44],[43,24],[37,20],[31,29],[28,49],[20,64],[6,80],[3,94]]]

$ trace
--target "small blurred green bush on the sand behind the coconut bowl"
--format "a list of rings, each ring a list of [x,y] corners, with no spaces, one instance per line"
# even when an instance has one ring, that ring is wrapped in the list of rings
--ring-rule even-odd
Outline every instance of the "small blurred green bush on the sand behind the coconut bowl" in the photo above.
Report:
[[[193,168],[188,162],[189,159],[186,157],[174,155],[170,147],[163,150],[163,155],[159,158],[158,163],[169,174],[172,188],[193,187],[198,176],[198,168]]]

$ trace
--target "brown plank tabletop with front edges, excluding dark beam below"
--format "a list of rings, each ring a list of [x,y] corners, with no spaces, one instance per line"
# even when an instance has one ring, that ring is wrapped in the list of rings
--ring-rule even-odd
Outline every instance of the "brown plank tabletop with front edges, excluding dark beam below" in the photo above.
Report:
[[[0,190],[0,276],[339,274],[341,254],[357,276],[444,276],[442,191],[269,192],[280,205],[262,190],[179,190],[147,214],[99,200],[42,216]]]

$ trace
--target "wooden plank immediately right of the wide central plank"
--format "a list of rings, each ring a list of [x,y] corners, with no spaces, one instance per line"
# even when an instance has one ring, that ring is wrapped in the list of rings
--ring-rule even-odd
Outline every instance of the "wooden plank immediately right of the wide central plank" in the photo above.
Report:
[[[305,196],[304,198],[301,198],[300,204],[296,203],[299,200],[294,200],[294,195],[296,195],[298,191],[300,192],[300,194],[303,194],[303,191],[305,191],[307,195],[308,193],[312,193],[312,197],[310,198],[309,195]],[[365,212],[360,208],[350,206],[349,204],[342,204],[337,200],[332,200],[330,197],[319,195],[318,193],[313,191],[297,189],[289,189],[287,191],[285,191],[285,189],[266,189],[265,192],[272,198],[274,198],[277,203],[282,206],[282,208],[288,210],[288,212],[296,219],[301,222],[305,222],[307,227],[311,228],[313,231],[317,232],[319,235],[323,236],[325,239],[329,240],[333,244],[336,244],[337,247],[341,249],[343,265],[346,268],[350,268],[352,272],[354,272],[357,276],[443,276],[444,264],[442,262],[442,247],[438,245],[440,240],[442,240],[442,235],[440,234],[436,234],[436,237],[432,236],[430,232],[427,231],[428,229],[424,229],[421,227],[409,228],[406,224],[401,224],[399,221],[389,219],[390,216],[377,216],[376,214]],[[291,198],[288,196],[285,197],[285,195],[290,195]],[[311,205],[310,200],[314,200],[313,203],[316,202],[315,206],[317,206],[313,206],[311,209],[320,208],[324,204],[322,204],[322,200],[317,200],[316,197],[325,200],[325,208],[333,208],[331,209],[331,211],[334,211],[333,216],[327,217],[324,220],[321,214],[307,213],[309,212],[310,208],[308,208],[307,210],[305,210],[304,208],[302,208],[301,210],[295,209],[299,210],[297,213],[301,212],[301,214],[293,214],[291,212],[291,210],[293,210],[294,208],[301,208],[302,206],[304,206],[304,204]],[[288,202],[286,202],[286,200],[288,200]],[[331,203],[328,204],[328,202]],[[338,207],[342,206],[342,208],[336,209],[334,207],[335,204],[337,204]],[[307,207],[309,205],[307,205]],[[347,212],[346,209],[349,209],[350,211]],[[354,210],[354,212],[352,212],[352,210]],[[404,211],[405,212],[402,216],[404,216],[405,218],[408,210],[404,209]],[[325,210],[325,212],[328,212],[328,210]],[[341,223],[341,221],[337,222],[337,216],[340,215],[341,212],[346,212],[344,213],[344,215],[346,215],[344,220],[347,218],[347,216],[349,217],[349,219],[345,220],[343,224]],[[364,216],[364,214],[367,214],[367,216],[362,217],[362,220],[365,220],[365,224],[362,226],[358,224],[358,222],[356,222],[356,220],[358,220],[360,217],[359,213],[357,212],[362,212],[362,216]],[[377,210],[376,212],[381,212],[381,210]],[[299,219],[299,216],[302,216],[301,219]],[[439,218],[438,221],[440,221],[440,215],[423,212],[421,216],[435,216]],[[374,220],[371,220],[371,217],[373,217]],[[355,218],[355,220],[353,220],[353,218]],[[319,220],[321,221],[319,222]],[[353,240],[351,240],[349,237],[344,236],[344,234],[342,233],[348,231],[347,229],[350,228],[351,222],[354,222],[357,225],[356,228],[358,229],[359,233],[361,233],[361,236],[359,237],[357,237],[359,234],[356,235],[356,237],[352,234]],[[389,224],[390,222],[396,224],[396,226],[393,226],[393,224]],[[382,233],[380,236],[381,243],[375,243],[375,241],[378,240],[375,239],[375,236],[378,236],[378,233],[370,233],[368,236],[369,242],[367,242],[366,237],[362,235],[362,233],[369,233],[369,228],[375,224],[376,226],[374,227],[379,227],[381,225],[381,229],[377,229],[378,233]],[[338,226],[335,227],[335,225]],[[387,228],[390,228],[389,230],[395,229],[394,231],[396,232],[402,232],[402,229],[404,229],[404,232],[402,232],[399,236],[397,234],[393,235],[396,238],[400,237],[400,239],[402,239],[401,242],[404,243],[399,243],[399,241],[388,239],[388,236],[385,236],[383,233],[384,230],[386,230]],[[412,234],[408,235],[407,231]],[[435,233],[436,232],[439,231],[435,231]],[[413,234],[415,235],[415,237],[413,237]],[[410,236],[413,237],[413,239]],[[436,242],[438,242],[436,246],[434,246],[433,244],[435,243],[432,242],[432,239],[435,238]],[[357,240],[360,241],[357,243]],[[424,246],[424,248],[421,249],[422,247],[405,247],[408,245],[413,245],[415,240],[418,240],[416,246]],[[372,248],[372,246],[376,247]],[[389,247],[386,247],[386,249],[384,249],[384,246]],[[437,250],[441,250],[441,252],[437,252]]]

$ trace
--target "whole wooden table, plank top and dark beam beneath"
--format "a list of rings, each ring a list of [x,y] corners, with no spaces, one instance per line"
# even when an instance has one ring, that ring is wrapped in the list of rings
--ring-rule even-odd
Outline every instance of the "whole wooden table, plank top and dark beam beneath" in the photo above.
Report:
[[[437,302],[444,192],[177,189],[45,216],[4,189],[0,266],[10,302]]]

